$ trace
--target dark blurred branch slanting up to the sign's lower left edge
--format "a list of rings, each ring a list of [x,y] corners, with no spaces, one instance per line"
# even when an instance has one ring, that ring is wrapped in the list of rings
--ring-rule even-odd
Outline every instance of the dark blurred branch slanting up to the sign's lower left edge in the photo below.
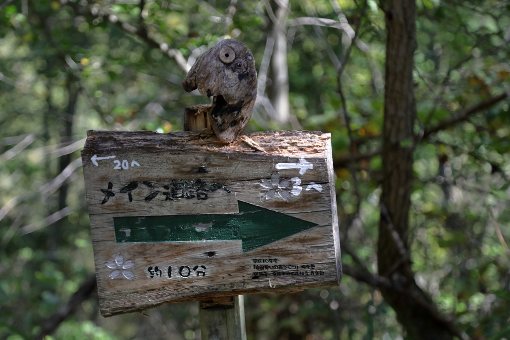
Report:
[[[46,335],[52,334],[58,328],[60,323],[71,315],[76,307],[90,297],[90,295],[95,291],[95,286],[96,276],[94,273],[82,283],[78,291],[71,296],[69,301],[61,305],[55,313],[41,325],[41,332],[37,335],[36,339],[42,340]]]

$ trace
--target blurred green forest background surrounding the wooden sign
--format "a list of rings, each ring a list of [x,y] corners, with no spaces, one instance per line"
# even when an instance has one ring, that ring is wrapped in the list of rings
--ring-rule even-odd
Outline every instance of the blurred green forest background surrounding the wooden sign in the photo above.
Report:
[[[4,0],[0,338],[200,338],[196,302],[99,315],[79,150],[181,130],[208,102],[184,75],[230,37],[259,75],[247,133],[331,134],[344,265],[246,296],[248,339],[510,339],[503,0]]]

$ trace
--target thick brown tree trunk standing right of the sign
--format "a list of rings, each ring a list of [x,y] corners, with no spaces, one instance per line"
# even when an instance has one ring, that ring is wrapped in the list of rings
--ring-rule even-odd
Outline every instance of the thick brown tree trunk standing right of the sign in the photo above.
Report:
[[[409,339],[452,339],[451,325],[414,280],[409,260],[409,210],[413,187],[413,125],[416,117],[413,67],[416,49],[414,1],[388,0],[386,92],[383,126],[378,272],[402,291],[381,288]],[[396,233],[395,233],[396,231]],[[402,294],[404,293],[404,294]],[[450,326],[450,327],[448,327]]]

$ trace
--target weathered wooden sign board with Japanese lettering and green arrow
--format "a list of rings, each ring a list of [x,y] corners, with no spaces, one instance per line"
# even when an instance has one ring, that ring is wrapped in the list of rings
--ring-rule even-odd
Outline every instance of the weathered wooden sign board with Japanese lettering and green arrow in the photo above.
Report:
[[[338,285],[330,135],[89,131],[82,151],[103,316]]]

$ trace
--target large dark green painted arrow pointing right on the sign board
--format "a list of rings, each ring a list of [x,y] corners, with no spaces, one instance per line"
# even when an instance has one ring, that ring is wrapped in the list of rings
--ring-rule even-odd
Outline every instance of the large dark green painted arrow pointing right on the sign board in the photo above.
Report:
[[[244,253],[318,225],[237,202],[237,214],[114,217],[115,238],[117,243],[241,240]]]

